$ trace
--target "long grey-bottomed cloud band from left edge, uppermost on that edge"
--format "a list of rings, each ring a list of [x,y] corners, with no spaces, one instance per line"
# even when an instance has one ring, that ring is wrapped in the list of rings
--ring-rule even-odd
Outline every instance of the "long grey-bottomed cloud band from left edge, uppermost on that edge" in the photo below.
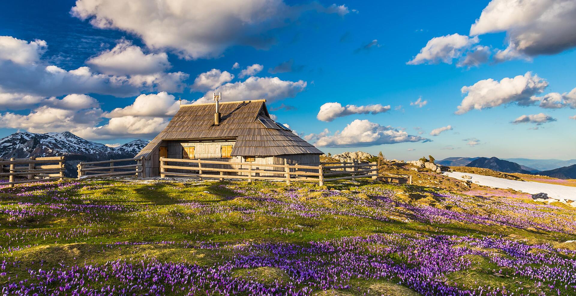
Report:
[[[13,97],[15,100],[29,101],[31,97],[46,98],[71,93],[128,97],[142,90],[178,91],[188,78],[188,74],[182,72],[116,76],[97,73],[86,66],[67,71],[40,59],[45,50],[43,46],[31,47],[31,43],[21,41],[13,37],[0,40],[0,43],[16,42],[28,52],[28,58],[0,55],[0,92],[3,97]],[[35,54],[31,53],[32,50],[36,50]],[[12,105],[18,104],[14,102]]]

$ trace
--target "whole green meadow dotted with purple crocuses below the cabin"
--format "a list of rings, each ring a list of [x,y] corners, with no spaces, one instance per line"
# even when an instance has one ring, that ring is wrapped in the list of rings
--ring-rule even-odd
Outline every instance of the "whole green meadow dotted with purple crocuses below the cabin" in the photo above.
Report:
[[[576,295],[576,209],[475,188],[3,187],[0,286],[3,295]]]

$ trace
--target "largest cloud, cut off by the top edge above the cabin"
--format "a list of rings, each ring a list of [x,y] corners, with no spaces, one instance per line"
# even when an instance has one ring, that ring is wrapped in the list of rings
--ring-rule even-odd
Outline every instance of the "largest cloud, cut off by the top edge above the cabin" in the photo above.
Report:
[[[305,12],[348,13],[346,6],[290,6],[282,0],[78,0],[73,16],[101,29],[139,36],[153,49],[185,59],[213,58],[233,45],[266,48],[272,29],[294,23]]]

